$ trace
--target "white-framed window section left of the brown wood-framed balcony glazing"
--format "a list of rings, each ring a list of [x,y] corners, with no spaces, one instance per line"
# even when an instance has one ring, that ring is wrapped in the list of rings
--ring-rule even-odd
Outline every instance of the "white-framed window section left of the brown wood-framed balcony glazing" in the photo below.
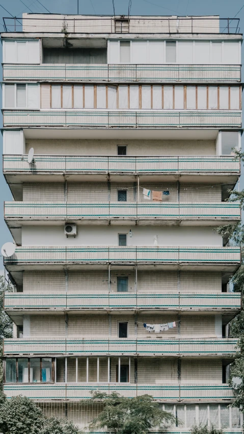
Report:
[[[4,108],[40,108],[38,84],[4,85]]]

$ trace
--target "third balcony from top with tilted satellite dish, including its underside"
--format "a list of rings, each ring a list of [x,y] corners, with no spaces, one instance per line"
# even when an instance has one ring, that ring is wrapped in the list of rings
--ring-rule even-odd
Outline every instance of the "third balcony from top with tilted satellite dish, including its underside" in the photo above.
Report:
[[[27,156],[24,156],[27,160]],[[223,182],[236,183],[240,175],[240,162],[233,156],[101,156],[101,155],[35,155],[31,165],[21,160],[21,155],[4,155],[3,171],[10,184],[20,182],[64,182],[64,175],[70,181],[105,181],[107,175],[112,181],[140,182],[176,181],[181,182]],[[11,185],[14,188],[14,185]]]

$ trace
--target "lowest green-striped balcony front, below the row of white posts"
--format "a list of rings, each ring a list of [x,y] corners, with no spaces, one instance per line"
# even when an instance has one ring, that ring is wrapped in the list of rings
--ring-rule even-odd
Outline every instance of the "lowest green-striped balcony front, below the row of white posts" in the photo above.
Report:
[[[227,384],[116,384],[116,383],[79,383],[79,384],[5,384],[4,393],[8,398],[23,394],[31,399],[79,400],[91,398],[91,391],[106,393],[118,392],[122,396],[149,394],[157,400],[166,401],[224,401],[234,398],[233,390]]]

